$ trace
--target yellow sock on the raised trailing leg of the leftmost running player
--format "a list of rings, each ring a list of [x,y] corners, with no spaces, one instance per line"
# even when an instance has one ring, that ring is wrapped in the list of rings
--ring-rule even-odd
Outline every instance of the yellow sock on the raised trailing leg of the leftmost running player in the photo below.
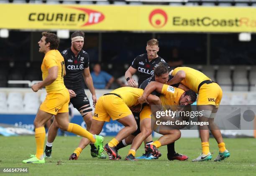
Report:
[[[83,129],[82,126],[79,126],[78,124],[69,123],[69,127],[67,129],[68,132],[77,134],[79,136],[83,136],[87,139],[89,139],[92,143],[95,143],[95,139],[93,135],[87,131],[86,129]]]

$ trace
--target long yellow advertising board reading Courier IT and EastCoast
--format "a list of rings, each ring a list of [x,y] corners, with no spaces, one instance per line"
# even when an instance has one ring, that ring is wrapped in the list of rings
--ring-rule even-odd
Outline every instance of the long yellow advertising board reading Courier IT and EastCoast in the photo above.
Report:
[[[256,8],[0,4],[0,28],[256,32]]]

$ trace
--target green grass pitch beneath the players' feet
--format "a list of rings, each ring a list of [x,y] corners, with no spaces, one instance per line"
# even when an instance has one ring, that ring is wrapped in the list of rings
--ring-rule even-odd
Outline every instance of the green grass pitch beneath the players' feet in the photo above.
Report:
[[[218,155],[218,146],[210,139],[212,160],[194,163],[191,160],[201,151],[199,138],[182,138],[175,143],[175,149],[189,156],[188,161],[169,161],[167,148],[161,146],[162,156],[158,160],[124,161],[130,147],[120,149],[122,160],[92,159],[90,146],[84,149],[77,161],[69,161],[69,155],[78,146],[81,137],[58,136],[54,141],[52,158],[46,164],[23,164],[30,154],[36,153],[34,136],[3,137],[0,136],[0,167],[28,167],[29,174],[18,175],[69,175],[69,176],[169,176],[169,175],[204,175],[204,176],[236,176],[256,175],[256,139],[224,139],[230,157],[224,161],[214,162]],[[105,143],[111,137],[105,137]],[[143,146],[136,156],[143,153]],[[0,174],[13,175],[13,174]]]

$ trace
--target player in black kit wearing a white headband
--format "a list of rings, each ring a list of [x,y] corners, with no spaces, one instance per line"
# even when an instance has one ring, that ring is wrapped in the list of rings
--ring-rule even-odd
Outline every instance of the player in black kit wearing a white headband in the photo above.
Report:
[[[71,35],[71,47],[62,51],[61,55],[64,57],[67,71],[66,76],[64,77],[64,84],[69,90],[70,102],[80,112],[86,123],[87,130],[89,131],[92,124],[92,107],[90,106],[89,99],[84,93],[84,82],[92,94],[93,106],[95,106],[97,98],[89,69],[89,54],[82,50],[83,46],[84,32],[75,31]],[[44,151],[46,157],[51,157],[52,143],[57,136],[58,129],[59,126],[56,123],[56,119],[54,119],[48,132],[46,148]],[[106,158],[104,154],[98,154],[94,145],[90,145],[92,157]],[[77,159],[81,151],[82,148],[79,145],[69,159]]]

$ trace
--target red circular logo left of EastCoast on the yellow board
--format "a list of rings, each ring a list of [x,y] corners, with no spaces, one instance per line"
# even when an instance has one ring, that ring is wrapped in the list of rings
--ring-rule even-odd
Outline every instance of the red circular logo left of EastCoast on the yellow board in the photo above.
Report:
[[[155,28],[164,27],[164,25],[167,22],[167,19],[168,17],[166,12],[164,12],[164,10],[161,9],[153,10],[148,17],[150,24]]]

